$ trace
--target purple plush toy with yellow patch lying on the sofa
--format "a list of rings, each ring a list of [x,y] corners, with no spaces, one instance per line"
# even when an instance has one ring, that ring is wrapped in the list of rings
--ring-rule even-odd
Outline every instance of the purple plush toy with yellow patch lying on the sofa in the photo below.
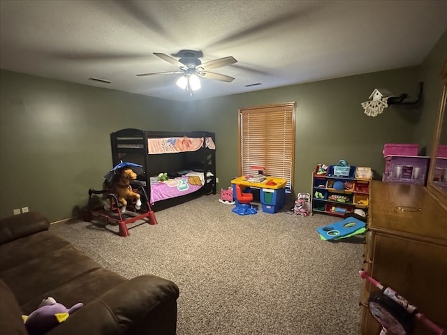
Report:
[[[66,308],[63,304],[57,303],[54,298],[47,297],[42,300],[36,311],[29,315],[22,315],[22,319],[29,335],[42,335],[67,320],[68,316],[82,306],[82,302],[78,302],[71,308]]]

